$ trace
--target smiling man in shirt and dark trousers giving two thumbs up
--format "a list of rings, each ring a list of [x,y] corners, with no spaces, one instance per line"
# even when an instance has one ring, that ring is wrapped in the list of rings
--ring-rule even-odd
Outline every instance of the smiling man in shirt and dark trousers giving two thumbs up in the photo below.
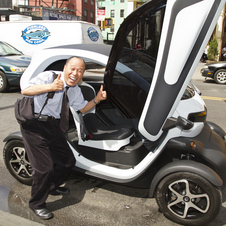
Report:
[[[29,207],[42,219],[53,217],[46,208],[46,199],[51,195],[65,195],[69,189],[60,187],[73,166],[75,158],[60,129],[60,115],[64,91],[67,89],[69,105],[82,113],[90,111],[99,101],[105,100],[107,94],[101,86],[92,101],[85,101],[77,86],[85,71],[85,63],[81,58],[71,57],[64,70],[53,81],[50,71],[40,73],[28,84],[21,84],[22,94],[34,96],[34,111],[38,114],[44,105],[47,94],[55,91],[53,99],[49,99],[41,117],[32,125],[21,125],[21,133],[25,149],[33,168],[33,183]]]

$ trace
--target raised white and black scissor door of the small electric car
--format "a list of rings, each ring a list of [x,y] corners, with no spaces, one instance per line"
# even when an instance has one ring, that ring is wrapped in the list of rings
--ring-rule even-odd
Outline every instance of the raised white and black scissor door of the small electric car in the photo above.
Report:
[[[224,4],[220,0],[148,1],[120,26],[105,85],[125,116],[139,118],[139,131],[147,139],[161,136]]]

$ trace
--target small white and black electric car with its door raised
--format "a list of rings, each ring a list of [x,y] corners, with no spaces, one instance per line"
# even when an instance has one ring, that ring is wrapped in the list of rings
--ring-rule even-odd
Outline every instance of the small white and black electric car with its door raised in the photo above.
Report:
[[[41,71],[59,71],[71,55],[87,65],[106,64],[107,100],[85,115],[70,109],[74,171],[149,188],[161,212],[183,225],[213,220],[226,184],[225,131],[206,121],[205,103],[189,83],[224,4],[150,0],[124,20],[111,49],[98,44],[42,50],[21,78],[23,84]],[[83,81],[84,98],[91,100],[100,84]],[[30,184],[21,133],[4,142],[7,169]]]

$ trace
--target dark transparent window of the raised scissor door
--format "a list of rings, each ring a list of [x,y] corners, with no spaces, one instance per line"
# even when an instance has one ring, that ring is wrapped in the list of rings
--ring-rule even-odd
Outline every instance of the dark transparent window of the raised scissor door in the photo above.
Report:
[[[154,75],[165,12],[165,1],[159,2],[156,11],[147,10],[137,22],[131,21],[133,26],[127,31],[114,73],[105,79],[113,102],[128,118],[140,117]]]

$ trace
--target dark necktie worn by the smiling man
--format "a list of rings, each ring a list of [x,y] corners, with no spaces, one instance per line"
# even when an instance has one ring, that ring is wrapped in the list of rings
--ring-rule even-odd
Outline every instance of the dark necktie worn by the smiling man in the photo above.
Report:
[[[63,94],[62,108],[60,113],[60,128],[65,133],[69,128],[69,101],[67,96],[67,91],[69,86],[66,86],[66,89]]]

